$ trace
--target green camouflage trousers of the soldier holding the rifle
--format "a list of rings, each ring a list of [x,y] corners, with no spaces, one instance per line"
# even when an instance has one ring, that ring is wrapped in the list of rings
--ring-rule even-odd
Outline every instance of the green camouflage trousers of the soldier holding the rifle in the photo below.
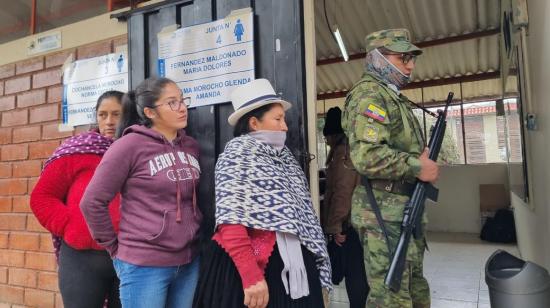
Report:
[[[382,229],[369,204],[365,201],[364,189],[354,193],[352,204],[352,221],[359,231],[365,253],[365,268],[368,283],[371,288],[368,308],[429,308],[430,288],[423,275],[425,237],[411,240],[407,250],[405,271],[401,281],[401,289],[394,293],[384,284],[391,259]],[[364,197],[364,198],[362,198]],[[403,204],[407,197],[396,196],[375,191],[377,203],[381,208],[384,224],[392,249],[401,234],[401,217]]]

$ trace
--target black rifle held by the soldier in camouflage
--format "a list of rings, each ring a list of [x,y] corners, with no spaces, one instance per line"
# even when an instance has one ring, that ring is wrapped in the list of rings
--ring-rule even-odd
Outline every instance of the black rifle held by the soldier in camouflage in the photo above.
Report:
[[[439,116],[433,127],[430,143],[428,143],[428,156],[433,161],[437,161],[439,150],[441,150],[441,144],[445,137],[447,109],[453,100],[453,95],[453,92],[449,92],[447,101],[445,102],[445,109],[437,111]],[[424,203],[428,198],[437,201],[437,195],[438,190],[432,184],[418,180],[411,199],[405,205],[405,209],[403,210],[403,222],[401,223],[401,236],[399,237],[399,242],[392,256],[390,268],[384,280],[386,286],[393,292],[399,292],[399,289],[401,289],[401,279],[403,277],[403,271],[405,270],[405,259],[407,257],[407,249],[409,247],[411,235],[415,232],[416,238],[421,236],[420,230],[422,216],[424,214]]]

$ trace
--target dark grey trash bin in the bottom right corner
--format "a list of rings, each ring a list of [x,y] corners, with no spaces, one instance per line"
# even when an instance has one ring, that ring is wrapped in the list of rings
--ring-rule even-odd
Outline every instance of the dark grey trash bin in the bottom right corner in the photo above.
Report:
[[[532,262],[503,250],[495,251],[485,264],[491,308],[549,308],[550,275]]]

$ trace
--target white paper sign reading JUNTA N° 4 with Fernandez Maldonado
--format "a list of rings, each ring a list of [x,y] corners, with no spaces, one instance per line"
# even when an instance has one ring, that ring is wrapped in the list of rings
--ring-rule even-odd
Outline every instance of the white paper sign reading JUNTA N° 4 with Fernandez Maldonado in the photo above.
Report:
[[[159,33],[159,75],[174,80],[191,107],[229,102],[233,89],[254,79],[252,11]]]

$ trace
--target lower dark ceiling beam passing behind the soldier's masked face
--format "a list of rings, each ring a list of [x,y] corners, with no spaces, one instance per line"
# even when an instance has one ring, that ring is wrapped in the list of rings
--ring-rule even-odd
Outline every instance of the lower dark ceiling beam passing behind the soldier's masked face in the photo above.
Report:
[[[515,75],[515,74],[516,74],[515,70],[512,70],[510,72],[510,75]],[[478,74],[466,75],[466,76],[457,76],[457,77],[448,77],[448,78],[441,78],[441,79],[411,82],[407,86],[403,87],[402,90],[428,88],[428,87],[443,86],[443,85],[457,84],[457,83],[463,83],[463,82],[474,82],[474,81],[481,81],[481,80],[488,80],[488,79],[498,79],[498,78],[500,78],[500,71],[478,73]],[[322,93],[322,94],[317,94],[317,100],[341,98],[341,97],[345,97],[347,94],[348,94],[347,90],[330,92],[330,93]]]

